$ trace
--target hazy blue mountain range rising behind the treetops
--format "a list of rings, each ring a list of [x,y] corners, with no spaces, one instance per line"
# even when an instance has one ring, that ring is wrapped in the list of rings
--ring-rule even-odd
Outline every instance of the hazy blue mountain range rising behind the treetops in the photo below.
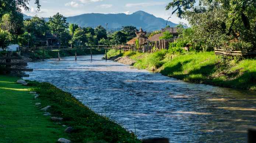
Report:
[[[47,20],[48,18],[46,18]],[[67,17],[67,22],[76,23],[81,27],[96,27],[108,23],[108,30],[120,30],[122,26],[135,26],[137,29],[142,27],[145,31],[161,30],[166,25],[166,20],[157,18],[144,11],[137,11],[133,14],[82,14]],[[168,21],[168,25],[175,27],[177,24]]]

